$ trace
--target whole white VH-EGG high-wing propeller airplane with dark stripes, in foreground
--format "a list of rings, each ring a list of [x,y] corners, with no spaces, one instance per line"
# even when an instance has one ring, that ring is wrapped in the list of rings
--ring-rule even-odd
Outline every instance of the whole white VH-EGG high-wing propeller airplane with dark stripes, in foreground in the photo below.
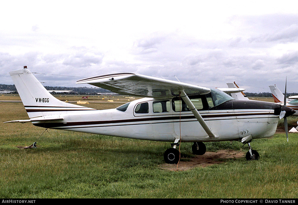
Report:
[[[202,155],[206,151],[203,142],[237,140],[248,143],[247,160],[259,159],[250,146],[251,140],[272,136],[280,114],[286,118],[295,112],[274,103],[234,100],[218,89],[134,73],[78,80],[77,84],[88,83],[119,94],[145,97],[115,109],[95,110],[58,100],[27,66],[10,75],[30,119],[9,122],[173,142],[173,148],[164,153],[164,160],[171,164],[179,162],[180,153],[176,149],[179,141],[193,142],[193,153]]]

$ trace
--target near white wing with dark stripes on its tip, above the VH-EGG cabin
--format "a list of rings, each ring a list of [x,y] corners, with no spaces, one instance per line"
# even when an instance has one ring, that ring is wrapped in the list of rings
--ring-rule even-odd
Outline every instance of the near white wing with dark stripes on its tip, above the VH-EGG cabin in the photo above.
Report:
[[[78,80],[76,84],[88,83],[112,92],[141,97],[179,96],[179,90],[187,95],[201,95],[210,92],[207,87],[181,83],[134,73],[114,73]]]

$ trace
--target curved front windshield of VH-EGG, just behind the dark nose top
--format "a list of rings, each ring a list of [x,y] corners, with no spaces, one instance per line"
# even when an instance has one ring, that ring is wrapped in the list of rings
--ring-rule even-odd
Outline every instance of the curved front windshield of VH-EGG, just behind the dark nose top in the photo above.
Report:
[[[210,88],[211,92],[206,95],[209,108],[218,106],[226,101],[234,100],[221,90]]]

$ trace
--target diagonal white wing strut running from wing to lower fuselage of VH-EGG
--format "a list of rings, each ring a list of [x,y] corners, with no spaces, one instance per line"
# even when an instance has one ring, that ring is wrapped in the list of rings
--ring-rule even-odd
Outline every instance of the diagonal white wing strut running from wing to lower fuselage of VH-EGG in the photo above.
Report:
[[[202,118],[202,116],[200,115],[200,113],[198,112],[198,110],[195,108],[195,106],[193,105],[192,101],[188,98],[188,96],[184,92],[184,90],[180,90],[180,92],[181,92],[181,98],[184,100],[185,104],[189,107],[189,109],[191,110],[191,112],[193,113],[193,115],[195,115],[195,118],[201,124],[201,126],[203,127],[203,129],[205,130],[205,132],[208,134],[209,137],[207,137],[207,138],[208,139],[218,138],[218,135],[215,135],[215,134],[212,133],[211,129],[206,124],[206,122],[204,121],[204,119]]]

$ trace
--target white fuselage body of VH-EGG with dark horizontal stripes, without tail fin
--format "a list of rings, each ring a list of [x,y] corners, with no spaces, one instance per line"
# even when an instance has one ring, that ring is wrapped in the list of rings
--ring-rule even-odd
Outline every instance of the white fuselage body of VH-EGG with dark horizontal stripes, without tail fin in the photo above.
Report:
[[[172,98],[162,99],[170,101]],[[68,111],[60,114],[63,120],[47,123],[33,122],[36,126],[52,129],[87,132],[94,134],[128,137],[143,140],[173,142],[180,138],[183,142],[209,142],[240,140],[252,135],[253,139],[270,137],[277,128],[279,116],[274,115],[274,108],[231,109],[236,102],[228,101],[227,109],[200,110],[199,113],[218,138],[208,139],[208,135],[190,111],[173,110],[168,105],[167,112],[153,112],[153,103],[161,99],[142,98],[132,101],[125,111],[118,109]],[[138,104],[148,103],[148,113],[136,113]],[[248,102],[246,102],[247,104]],[[268,107],[268,106],[267,106]]]

